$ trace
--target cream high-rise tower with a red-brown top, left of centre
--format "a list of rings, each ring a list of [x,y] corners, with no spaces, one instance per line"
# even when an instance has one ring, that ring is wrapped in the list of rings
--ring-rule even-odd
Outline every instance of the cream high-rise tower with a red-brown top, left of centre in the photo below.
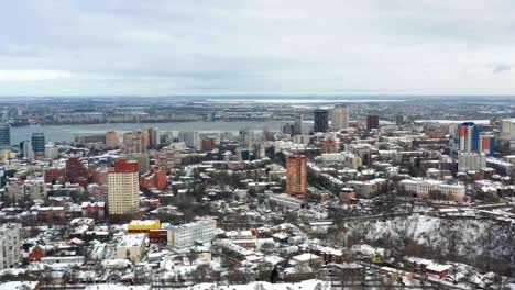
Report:
[[[138,161],[119,159],[108,172],[108,207],[112,217],[133,217],[140,211]]]

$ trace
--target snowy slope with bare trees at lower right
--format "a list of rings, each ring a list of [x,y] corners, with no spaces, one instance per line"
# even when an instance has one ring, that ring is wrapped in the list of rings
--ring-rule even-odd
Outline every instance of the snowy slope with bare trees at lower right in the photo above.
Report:
[[[515,265],[515,231],[509,224],[486,220],[450,220],[412,215],[384,221],[346,224],[342,237],[395,245],[402,249],[407,239],[449,255],[468,258],[492,257]]]

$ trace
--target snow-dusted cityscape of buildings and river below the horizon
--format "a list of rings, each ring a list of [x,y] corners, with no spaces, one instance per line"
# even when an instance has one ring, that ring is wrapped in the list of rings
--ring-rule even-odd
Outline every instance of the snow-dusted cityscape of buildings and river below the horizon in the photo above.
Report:
[[[508,287],[515,107],[394,99],[4,102],[0,279],[39,289]],[[174,121],[157,123],[167,107]],[[435,110],[449,120],[418,120]],[[50,132],[70,124],[77,133]],[[88,133],[91,124],[125,130]],[[13,141],[15,131],[25,135]]]

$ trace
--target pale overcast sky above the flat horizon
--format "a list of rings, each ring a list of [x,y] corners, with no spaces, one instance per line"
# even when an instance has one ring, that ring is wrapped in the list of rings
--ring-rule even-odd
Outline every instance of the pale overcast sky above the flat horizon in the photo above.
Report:
[[[0,96],[515,94],[515,1],[2,1]]]

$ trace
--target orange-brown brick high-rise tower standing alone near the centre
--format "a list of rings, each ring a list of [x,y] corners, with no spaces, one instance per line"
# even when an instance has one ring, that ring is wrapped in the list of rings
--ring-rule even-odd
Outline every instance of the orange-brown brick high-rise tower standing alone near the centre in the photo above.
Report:
[[[286,174],[286,191],[289,194],[307,194],[307,158],[288,157]]]

